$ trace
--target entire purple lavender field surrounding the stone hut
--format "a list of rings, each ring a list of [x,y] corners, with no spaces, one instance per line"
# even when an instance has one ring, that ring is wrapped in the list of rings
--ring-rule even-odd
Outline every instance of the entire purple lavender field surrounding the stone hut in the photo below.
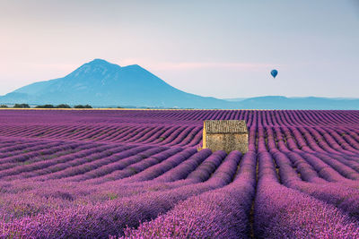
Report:
[[[359,111],[0,111],[0,238],[172,237],[359,238]]]

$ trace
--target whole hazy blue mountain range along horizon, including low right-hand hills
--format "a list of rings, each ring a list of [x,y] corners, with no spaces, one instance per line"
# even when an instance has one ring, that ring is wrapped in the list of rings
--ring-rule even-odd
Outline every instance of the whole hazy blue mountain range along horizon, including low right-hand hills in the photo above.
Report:
[[[241,90],[239,90],[239,94]],[[89,104],[94,107],[252,109],[359,109],[359,99],[258,97],[219,99],[178,90],[137,64],[121,67],[101,59],[63,78],[39,81],[0,97],[1,103]]]

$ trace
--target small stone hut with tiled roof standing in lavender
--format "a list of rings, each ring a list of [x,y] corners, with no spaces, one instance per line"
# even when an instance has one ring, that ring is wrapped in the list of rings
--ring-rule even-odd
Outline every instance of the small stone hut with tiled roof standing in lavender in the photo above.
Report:
[[[230,153],[248,151],[248,129],[244,120],[206,120],[203,126],[203,149]]]

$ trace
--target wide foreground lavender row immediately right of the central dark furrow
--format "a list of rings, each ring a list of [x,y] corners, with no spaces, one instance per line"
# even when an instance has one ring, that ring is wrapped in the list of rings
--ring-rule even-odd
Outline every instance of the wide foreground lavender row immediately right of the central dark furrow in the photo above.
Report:
[[[279,184],[273,158],[259,154],[254,228],[258,238],[355,238],[359,223],[339,209]]]

